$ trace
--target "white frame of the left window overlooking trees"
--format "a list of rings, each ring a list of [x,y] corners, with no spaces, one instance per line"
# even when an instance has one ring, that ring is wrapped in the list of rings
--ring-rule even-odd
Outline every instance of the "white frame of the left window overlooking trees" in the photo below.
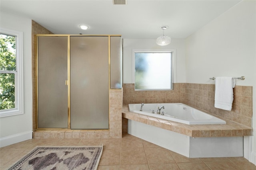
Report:
[[[0,117],[24,114],[23,96],[23,32],[0,27],[0,33],[16,37],[15,108],[0,110]]]

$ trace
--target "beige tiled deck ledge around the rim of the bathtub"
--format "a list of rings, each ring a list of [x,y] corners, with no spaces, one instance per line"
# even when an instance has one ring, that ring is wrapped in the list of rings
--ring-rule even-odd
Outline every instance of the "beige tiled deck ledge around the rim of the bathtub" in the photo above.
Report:
[[[210,114],[210,113],[209,113]],[[213,114],[212,114],[213,115]],[[160,127],[169,131],[187,135],[190,137],[242,137],[251,136],[252,128],[245,125],[238,124],[214,115],[220,119],[226,121],[226,124],[222,125],[186,125],[184,123],[178,123],[156,117],[146,116],[134,112],[130,112],[128,105],[123,105],[122,117],[147,125]]]

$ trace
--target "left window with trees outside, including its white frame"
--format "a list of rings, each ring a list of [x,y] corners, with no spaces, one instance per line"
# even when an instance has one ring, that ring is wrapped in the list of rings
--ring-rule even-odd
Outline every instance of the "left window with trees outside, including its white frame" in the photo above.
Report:
[[[22,32],[0,31],[0,117],[6,117],[23,113]]]

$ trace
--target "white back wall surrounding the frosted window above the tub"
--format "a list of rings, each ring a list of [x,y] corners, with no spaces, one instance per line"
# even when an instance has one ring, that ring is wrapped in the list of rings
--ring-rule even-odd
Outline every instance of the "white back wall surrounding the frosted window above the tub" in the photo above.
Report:
[[[159,35],[160,36],[160,35]],[[186,80],[185,40],[172,39],[166,46],[156,45],[156,39],[124,39],[123,41],[123,82],[132,83],[132,50],[133,49],[176,49],[177,82]]]

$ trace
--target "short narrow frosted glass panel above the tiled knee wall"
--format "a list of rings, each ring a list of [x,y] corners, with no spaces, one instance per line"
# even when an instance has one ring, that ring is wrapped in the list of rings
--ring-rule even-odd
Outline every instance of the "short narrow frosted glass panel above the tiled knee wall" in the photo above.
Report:
[[[122,88],[122,38],[110,37],[110,88]]]

